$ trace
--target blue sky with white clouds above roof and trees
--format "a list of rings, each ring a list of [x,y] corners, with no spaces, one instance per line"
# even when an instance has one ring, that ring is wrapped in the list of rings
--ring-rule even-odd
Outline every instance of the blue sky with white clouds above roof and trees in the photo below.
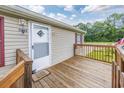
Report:
[[[22,7],[70,25],[103,21],[113,13],[124,13],[122,5],[23,5]]]

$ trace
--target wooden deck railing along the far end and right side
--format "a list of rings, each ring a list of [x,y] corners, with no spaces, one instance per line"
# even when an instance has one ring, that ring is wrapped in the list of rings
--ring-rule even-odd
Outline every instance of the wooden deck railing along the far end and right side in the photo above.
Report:
[[[74,44],[74,55],[112,63],[112,87],[124,88],[124,50],[112,45]]]

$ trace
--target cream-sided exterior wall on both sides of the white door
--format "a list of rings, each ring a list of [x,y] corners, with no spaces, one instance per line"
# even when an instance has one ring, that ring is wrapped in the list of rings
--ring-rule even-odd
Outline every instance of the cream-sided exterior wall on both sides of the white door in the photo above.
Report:
[[[10,65],[16,62],[16,49],[21,49],[27,55],[29,54],[28,32],[24,34],[19,32],[18,18],[8,16],[3,17],[5,26],[4,27],[5,65]],[[52,65],[54,65],[73,56],[75,32],[71,32],[57,27],[51,27],[51,30],[52,30]]]

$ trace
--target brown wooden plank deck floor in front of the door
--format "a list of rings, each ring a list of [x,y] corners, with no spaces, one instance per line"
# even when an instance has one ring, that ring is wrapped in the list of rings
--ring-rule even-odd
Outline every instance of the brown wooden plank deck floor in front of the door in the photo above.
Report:
[[[109,88],[111,64],[79,56],[46,69],[50,74],[36,82],[33,88]]]

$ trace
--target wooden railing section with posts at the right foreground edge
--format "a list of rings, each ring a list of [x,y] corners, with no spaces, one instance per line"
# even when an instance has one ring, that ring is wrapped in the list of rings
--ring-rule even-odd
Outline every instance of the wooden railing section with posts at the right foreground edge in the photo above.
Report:
[[[112,63],[112,87],[124,88],[124,53],[116,47],[116,61]]]

